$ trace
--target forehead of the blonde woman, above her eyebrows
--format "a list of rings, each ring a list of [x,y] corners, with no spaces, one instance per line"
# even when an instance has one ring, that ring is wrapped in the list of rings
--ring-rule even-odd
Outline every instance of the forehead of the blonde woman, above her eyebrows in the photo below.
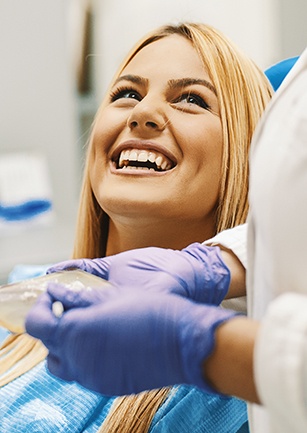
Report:
[[[169,76],[208,79],[208,72],[192,43],[180,35],[166,36],[144,47],[124,68],[122,74],[145,78]]]

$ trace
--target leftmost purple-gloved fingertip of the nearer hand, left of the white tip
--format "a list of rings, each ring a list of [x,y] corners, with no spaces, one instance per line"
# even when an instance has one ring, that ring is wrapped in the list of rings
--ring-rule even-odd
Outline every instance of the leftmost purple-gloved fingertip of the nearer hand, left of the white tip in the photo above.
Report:
[[[58,324],[58,318],[52,311],[52,298],[43,293],[31,308],[25,321],[25,328],[29,335],[44,340],[46,345],[50,341]]]

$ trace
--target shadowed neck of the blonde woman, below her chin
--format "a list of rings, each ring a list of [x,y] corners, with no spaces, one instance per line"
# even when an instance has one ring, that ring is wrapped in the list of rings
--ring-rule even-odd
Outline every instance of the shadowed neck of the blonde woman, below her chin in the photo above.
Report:
[[[214,235],[214,224],[204,221],[133,221],[110,219],[106,255],[145,247],[182,249],[193,242],[203,242]]]

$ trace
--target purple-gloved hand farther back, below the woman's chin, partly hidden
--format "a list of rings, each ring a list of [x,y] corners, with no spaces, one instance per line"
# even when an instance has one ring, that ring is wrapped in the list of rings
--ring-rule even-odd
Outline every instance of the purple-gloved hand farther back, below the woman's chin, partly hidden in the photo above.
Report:
[[[47,272],[73,268],[121,287],[176,293],[212,305],[220,304],[230,284],[230,271],[220,249],[200,243],[182,251],[149,247],[103,259],[69,260],[52,266]]]

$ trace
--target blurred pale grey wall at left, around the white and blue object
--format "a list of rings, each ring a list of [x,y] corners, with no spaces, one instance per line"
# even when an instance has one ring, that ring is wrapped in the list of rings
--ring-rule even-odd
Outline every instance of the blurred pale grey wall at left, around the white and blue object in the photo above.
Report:
[[[72,249],[79,156],[68,7],[68,0],[0,0],[0,157],[46,156],[56,216],[46,227],[0,233],[0,281],[17,263],[62,260]]]

